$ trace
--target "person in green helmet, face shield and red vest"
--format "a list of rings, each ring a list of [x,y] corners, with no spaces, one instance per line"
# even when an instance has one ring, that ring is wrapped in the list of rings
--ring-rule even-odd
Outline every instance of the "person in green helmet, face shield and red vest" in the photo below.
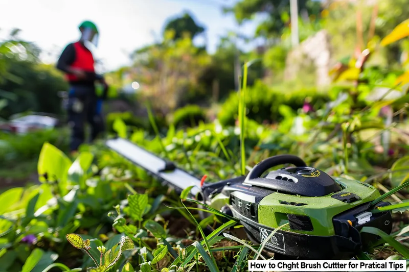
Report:
[[[74,155],[78,147],[85,140],[85,123],[91,127],[91,140],[95,140],[104,131],[101,116],[101,99],[107,96],[108,85],[104,78],[95,72],[95,60],[86,43],[92,42],[97,46],[98,29],[95,23],[84,21],[80,24],[81,38],[68,44],[57,62],[57,68],[65,73],[69,82],[69,94],[66,110],[69,125],[72,129],[70,151]],[[104,86],[102,97],[98,97],[96,83]]]

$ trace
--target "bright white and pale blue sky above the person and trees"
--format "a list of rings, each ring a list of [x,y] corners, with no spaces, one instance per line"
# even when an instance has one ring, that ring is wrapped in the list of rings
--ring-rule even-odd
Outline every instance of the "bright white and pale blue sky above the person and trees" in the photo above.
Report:
[[[206,28],[208,51],[215,51],[219,37],[229,31],[252,34],[257,21],[239,27],[233,14],[225,15],[222,4],[238,0],[0,0],[0,40],[10,30],[35,42],[41,58],[53,63],[66,44],[79,39],[83,20],[94,21],[100,31],[96,58],[104,70],[129,64],[129,54],[160,39],[165,22],[189,11]]]

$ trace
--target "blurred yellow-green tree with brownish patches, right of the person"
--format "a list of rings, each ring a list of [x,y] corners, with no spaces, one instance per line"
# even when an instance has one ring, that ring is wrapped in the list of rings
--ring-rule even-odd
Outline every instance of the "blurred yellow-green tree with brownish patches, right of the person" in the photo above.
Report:
[[[168,31],[161,44],[137,51],[131,69],[134,78],[139,79],[143,96],[164,115],[189,97],[206,92],[199,78],[210,63],[206,51],[194,46],[189,37],[175,39],[174,34]]]

